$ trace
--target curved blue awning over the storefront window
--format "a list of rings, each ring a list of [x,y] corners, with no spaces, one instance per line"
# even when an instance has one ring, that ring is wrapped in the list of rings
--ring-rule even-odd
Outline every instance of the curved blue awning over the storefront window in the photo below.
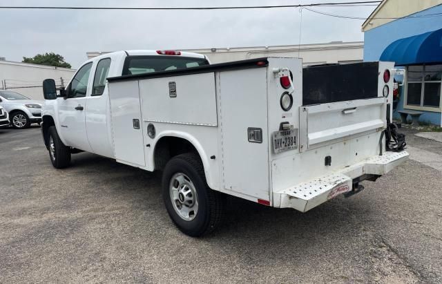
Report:
[[[394,41],[379,60],[394,61],[396,66],[442,63],[442,28]]]

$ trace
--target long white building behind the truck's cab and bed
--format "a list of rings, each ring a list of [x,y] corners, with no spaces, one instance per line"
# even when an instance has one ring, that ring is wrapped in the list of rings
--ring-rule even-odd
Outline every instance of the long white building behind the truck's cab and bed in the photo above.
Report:
[[[363,61],[363,41],[333,41],[328,44],[302,44],[291,46],[253,46],[238,48],[194,48],[179,49],[201,53],[215,63],[251,59],[258,57],[301,57],[305,65],[325,63],[354,63]],[[88,59],[106,52],[86,53]]]

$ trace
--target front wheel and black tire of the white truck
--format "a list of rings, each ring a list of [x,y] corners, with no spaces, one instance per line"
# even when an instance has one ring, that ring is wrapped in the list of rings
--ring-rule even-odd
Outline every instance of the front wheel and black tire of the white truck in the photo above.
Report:
[[[53,149],[51,143],[53,142]],[[48,131],[48,152],[50,162],[56,169],[63,169],[70,164],[70,148],[61,142],[55,126],[50,126]],[[52,152],[54,151],[54,152]]]

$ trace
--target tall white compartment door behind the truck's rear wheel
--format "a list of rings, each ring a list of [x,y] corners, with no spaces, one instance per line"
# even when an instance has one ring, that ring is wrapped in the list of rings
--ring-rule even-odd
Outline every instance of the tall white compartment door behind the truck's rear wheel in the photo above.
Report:
[[[269,200],[267,69],[220,72],[218,76],[222,190]],[[247,128],[262,129],[262,143],[247,140]]]

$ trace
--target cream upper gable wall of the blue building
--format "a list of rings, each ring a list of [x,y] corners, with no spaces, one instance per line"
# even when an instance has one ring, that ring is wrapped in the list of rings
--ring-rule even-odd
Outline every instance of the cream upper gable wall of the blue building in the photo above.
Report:
[[[383,0],[363,23],[362,30],[366,32],[394,21],[391,18],[405,17],[441,4],[442,0]]]

